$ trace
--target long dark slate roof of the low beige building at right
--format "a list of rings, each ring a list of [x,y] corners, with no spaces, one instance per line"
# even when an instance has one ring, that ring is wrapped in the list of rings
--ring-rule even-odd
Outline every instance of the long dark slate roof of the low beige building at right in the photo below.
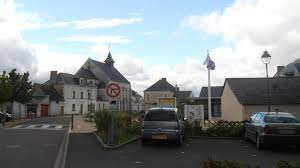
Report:
[[[267,104],[266,78],[229,78],[225,83],[241,104]],[[271,104],[300,104],[300,77],[270,78]]]

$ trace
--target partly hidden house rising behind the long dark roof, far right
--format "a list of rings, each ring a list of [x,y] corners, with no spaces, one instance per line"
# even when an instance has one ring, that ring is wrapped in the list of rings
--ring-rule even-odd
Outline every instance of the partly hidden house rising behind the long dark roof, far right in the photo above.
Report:
[[[277,73],[274,77],[300,76],[300,59],[287,66],[277,66]]]

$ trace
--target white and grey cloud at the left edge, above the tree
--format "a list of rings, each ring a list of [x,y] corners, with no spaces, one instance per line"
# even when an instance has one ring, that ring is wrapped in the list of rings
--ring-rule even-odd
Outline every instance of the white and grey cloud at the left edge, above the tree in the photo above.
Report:
[[[36,54],[17,29],[14,2],[0,0],[0,11],[0,71],[17,68],[35,74]]]

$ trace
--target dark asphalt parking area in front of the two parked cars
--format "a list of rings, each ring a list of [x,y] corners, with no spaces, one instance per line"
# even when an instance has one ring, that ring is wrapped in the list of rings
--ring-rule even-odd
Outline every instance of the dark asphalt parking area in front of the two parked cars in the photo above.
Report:
[[[67,168],[199,168],[204,159],[236,160],[252,166],[273,167],[277,160],[298,161],[295,149],[258,151],[239,140],[190,140],[181,147],[165,144],[142,146],[139,141],[119,150],[102,150],[92,134],[70,134]]]

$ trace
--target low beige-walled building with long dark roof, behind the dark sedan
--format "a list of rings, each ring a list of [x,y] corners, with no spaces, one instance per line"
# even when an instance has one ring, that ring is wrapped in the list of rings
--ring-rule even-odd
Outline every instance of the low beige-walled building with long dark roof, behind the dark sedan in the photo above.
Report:
[[[271,111],[283,111],[300,118],[300,78],[270,78]],[[242,121],[267,111],[266,78],[228,78],[221,94],[222,119]]]

